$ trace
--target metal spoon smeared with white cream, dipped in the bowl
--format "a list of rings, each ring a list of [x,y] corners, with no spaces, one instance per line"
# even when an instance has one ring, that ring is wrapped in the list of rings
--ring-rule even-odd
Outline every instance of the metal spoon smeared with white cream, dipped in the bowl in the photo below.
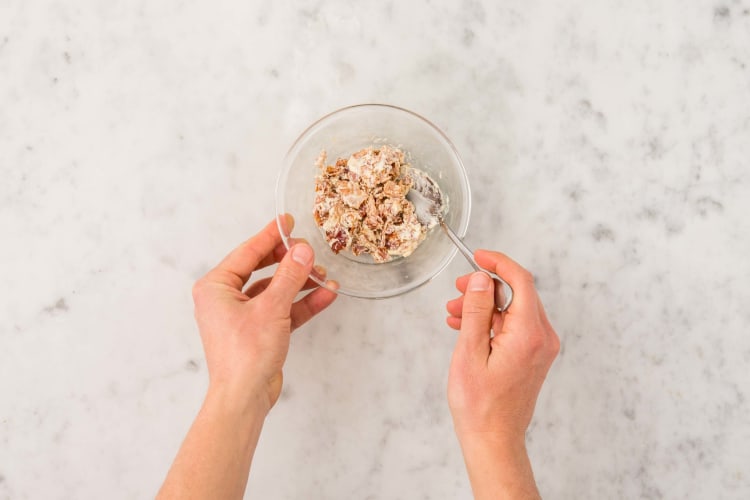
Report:
[[[406,198],[414,204],[415,214],[420,224],[427,227],[434,227],[439,224],[448,238],[469,261],[471,267],[476,271],[487,273],[495,282],[495,307],[497,310],[503,312],[508,309],[513,301],[513,289],[497,274],[479,267],[479,264],[474,260],[474,252],[445,223],[445,220],[443,220],[445,208],[443,206],[443,193],[437,183],[421,170],[409,168],[407,173],[412,178],[413,184],[406,194]]]

